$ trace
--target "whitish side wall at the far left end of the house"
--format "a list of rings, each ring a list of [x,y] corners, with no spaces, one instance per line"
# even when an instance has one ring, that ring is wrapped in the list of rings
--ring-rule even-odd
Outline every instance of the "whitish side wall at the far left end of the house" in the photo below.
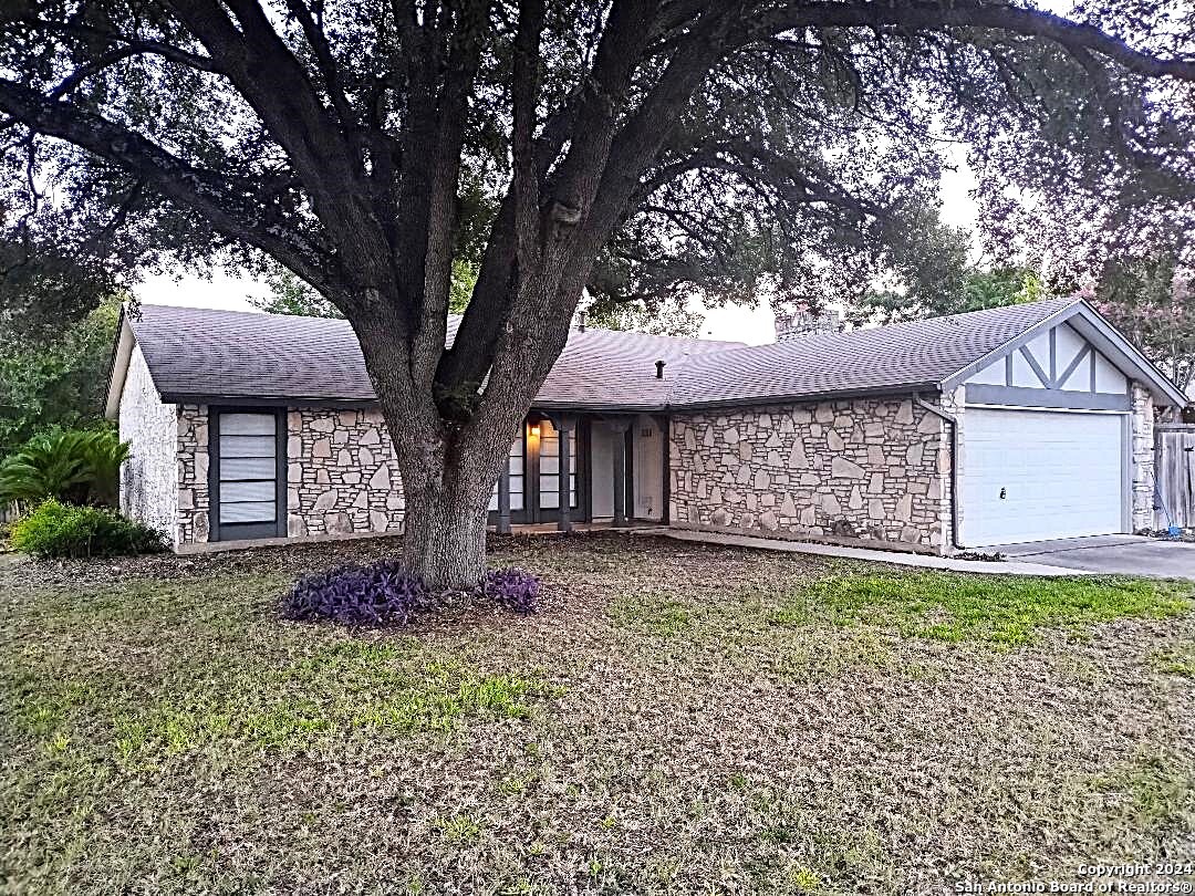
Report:
[[[133,346],[121,393],[117,426],[129,442],[121,465],[121,510],[177,538],[178,480],[174,478],[174,405],[158,394],[141,348]]]

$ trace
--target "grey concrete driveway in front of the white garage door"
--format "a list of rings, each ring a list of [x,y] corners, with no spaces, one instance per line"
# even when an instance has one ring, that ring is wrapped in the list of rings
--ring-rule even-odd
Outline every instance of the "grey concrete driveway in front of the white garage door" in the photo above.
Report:
[[[994,545],[1009,559],[1065,566],[1085,572],[1117,572],[1128,576],[1160,576],[1195,581],[1195,544],[1165,541],[1142,535],[1093,535],[1083,539],[1034,541],[1027,545]]]

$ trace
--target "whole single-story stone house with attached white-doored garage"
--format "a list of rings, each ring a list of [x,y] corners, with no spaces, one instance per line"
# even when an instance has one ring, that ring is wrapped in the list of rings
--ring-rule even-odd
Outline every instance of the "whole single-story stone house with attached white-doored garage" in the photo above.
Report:
[[[770,345],[576,329],[491,522],[608,520],[949,553],[1153,526],[1185,397],[1077,299]],[[121,502],[178,551],[399,532],[347,321],[141,306],[106,403]]]

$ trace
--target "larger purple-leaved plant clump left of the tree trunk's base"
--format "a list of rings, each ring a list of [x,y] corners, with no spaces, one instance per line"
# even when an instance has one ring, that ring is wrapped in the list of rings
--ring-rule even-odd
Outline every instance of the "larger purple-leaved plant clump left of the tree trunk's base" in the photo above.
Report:
[[[287,594],[282,615],[350,625],[405,625],[434,605],[435,596],[422,578],[398,560],[379,560],[304,576]]]

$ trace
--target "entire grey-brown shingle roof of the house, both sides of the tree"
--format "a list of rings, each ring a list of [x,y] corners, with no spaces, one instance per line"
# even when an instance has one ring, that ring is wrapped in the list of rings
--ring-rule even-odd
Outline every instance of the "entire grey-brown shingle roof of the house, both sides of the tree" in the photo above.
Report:
[[[754,346],[574,331],[535,404],[657,410],[930,388],[1074,302],[1056,299]],[[375,399],[344,320],[145,305],[131,326],[167,401]],[[667,362],[662,380],[657,360]]]

